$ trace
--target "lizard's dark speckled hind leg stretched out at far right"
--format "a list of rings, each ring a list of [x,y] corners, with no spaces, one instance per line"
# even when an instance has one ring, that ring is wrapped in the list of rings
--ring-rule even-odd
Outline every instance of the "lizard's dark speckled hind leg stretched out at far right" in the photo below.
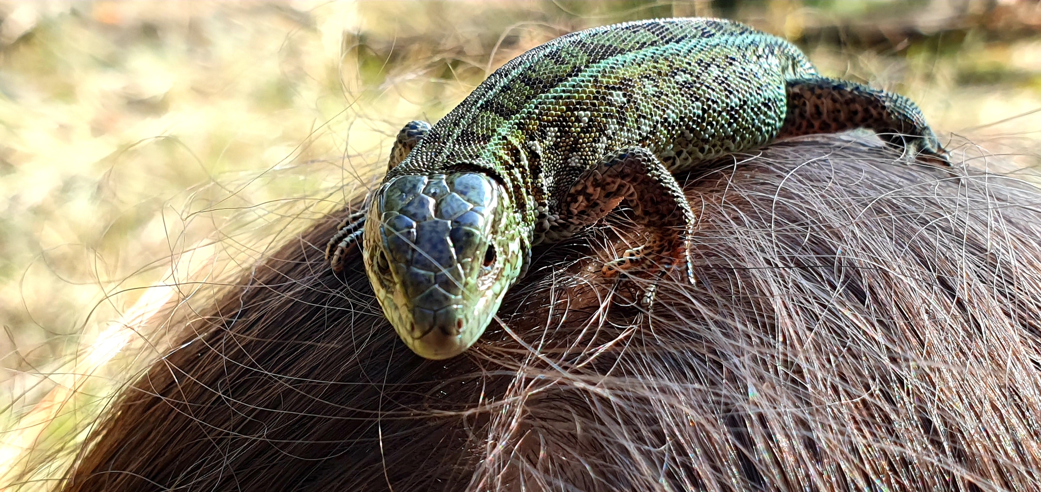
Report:
[[[828,77],[789,80],[785,93],[788,108],[778,137],[868,128],[912,158],[950,165],[921,110],[904,96]]]

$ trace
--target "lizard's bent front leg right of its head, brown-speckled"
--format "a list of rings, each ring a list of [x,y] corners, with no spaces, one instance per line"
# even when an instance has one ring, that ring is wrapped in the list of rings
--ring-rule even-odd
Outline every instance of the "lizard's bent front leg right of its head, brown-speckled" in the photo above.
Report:
[[[676,178],[650,150],[637,148],[609,155],[583,173],[558,200],[557,225],[569,231],[600,221],[618,205],[632,208],[650,239],[603,267],[607,277],[639,269],[649,277],[670,266],[694,281],[690,237],[694,214]]]

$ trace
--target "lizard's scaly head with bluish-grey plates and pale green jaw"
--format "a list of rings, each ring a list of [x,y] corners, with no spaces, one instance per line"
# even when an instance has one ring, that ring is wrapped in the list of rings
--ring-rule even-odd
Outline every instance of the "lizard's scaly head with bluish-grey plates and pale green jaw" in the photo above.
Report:
[[[503,185],[481,173],[400,176],[373,196],[365,271],[412,352],[448,359],[484,333],[523,266],[512,211]]]

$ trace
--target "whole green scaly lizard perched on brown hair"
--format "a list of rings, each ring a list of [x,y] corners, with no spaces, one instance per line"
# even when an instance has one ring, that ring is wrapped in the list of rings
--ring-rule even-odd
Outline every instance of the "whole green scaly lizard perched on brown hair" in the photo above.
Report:
[[[401,339],[447,359],[485,331],[532,247],[626,206],[648,237],[604,276],[681,271],[693,283],[696,218],[674,174],[855,128],[949,165],[910,99],[824,77],[794,45],[747,25],[676,18],[577,31],[508,61],[437,124],[405,125],[381,185],[326,256],[339,271],[360,245]]]

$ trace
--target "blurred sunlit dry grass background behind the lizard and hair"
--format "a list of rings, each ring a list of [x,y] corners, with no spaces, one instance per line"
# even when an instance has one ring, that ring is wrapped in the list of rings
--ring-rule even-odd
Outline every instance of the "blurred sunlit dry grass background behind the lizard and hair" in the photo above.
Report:
[[[1041,155],[1035,2],[0,3],[0,474],[163,352],[156,306],[189,313],[370,183],[403,122],[562,33],[674,15],[786,35],[941,132]]]

